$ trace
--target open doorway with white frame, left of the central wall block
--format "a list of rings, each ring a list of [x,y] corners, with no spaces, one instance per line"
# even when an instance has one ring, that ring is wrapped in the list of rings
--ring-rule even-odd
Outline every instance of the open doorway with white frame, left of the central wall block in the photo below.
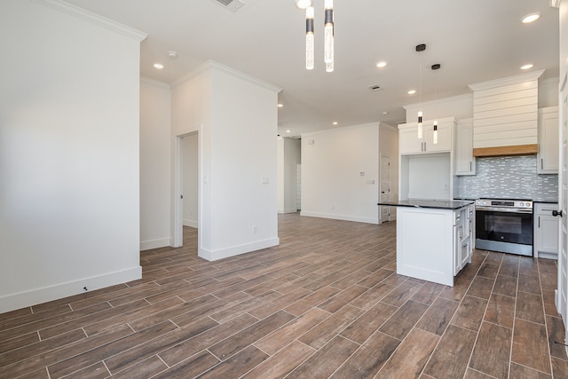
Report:
[[[200,144],[197,131],[176,137],[172,243],[174,248],[183,246],[184,226],[197,228],[198,245],[201,240]]]

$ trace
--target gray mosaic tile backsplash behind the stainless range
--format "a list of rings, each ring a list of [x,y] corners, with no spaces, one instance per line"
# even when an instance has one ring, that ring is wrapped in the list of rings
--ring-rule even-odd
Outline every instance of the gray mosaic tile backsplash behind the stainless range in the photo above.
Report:
[[[557,201],[558,176],[537,175],[536,155],[479,157],[477,175],[454,177],[454,197]]]

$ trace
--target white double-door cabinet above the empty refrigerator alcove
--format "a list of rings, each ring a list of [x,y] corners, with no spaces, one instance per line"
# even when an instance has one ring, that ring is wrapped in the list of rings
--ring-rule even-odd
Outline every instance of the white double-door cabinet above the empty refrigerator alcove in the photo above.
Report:
[[[451,152],[454,147],[454,117],[438,120],[438,143],[434,143],[433,122],[433,120],[429,120],[422,123],[422,138],[418,138],[418,122],[398,125],[399,154]]]

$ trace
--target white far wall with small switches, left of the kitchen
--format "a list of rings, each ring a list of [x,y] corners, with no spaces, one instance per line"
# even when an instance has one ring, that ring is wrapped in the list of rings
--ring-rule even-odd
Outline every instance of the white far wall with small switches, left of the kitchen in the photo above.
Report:
[[[378,122],[302,135],[302,216],[378,224],[378,194]]]

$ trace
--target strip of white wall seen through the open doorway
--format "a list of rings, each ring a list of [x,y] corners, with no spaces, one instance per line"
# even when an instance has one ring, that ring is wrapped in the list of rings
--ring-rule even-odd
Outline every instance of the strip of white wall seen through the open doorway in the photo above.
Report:
[[[198,175],[199,151],[197,133],[184,137],[183,177],[184,177],[184,226],[198,227],[197,211],[199,205]]]

